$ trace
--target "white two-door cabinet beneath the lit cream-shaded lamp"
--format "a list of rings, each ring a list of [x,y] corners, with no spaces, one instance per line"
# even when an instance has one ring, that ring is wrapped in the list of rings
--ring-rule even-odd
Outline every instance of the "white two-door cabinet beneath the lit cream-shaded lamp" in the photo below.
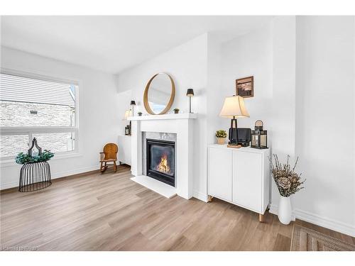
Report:
[[[268,149],[209,145],[209,196],[264,214],[269,204],[268,156]]]

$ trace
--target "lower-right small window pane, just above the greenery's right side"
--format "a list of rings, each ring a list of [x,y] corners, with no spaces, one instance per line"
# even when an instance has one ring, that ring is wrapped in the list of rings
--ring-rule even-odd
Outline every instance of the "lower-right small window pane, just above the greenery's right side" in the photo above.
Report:
[[[75,150],[74,133],[35,133],[37,143],[43,150],[50,150],[52,153],[62,153]]]

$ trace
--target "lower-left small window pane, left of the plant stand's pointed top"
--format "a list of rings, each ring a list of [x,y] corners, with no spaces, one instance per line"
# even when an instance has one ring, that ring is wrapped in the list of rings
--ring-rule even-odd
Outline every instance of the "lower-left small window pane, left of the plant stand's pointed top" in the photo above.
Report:
[[[0,157],[16,157],[27,150],[28,135],[0,135]]]

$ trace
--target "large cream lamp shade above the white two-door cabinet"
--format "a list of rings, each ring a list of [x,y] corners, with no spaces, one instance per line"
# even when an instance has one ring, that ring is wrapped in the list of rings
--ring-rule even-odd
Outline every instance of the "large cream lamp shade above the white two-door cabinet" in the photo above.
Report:
[[[248,111],[246,111],[246,108],[244,106],[243,97],[239,95],[226,97],[226,99],[224,99],[222,111],[221,113],[219,113],[219,116],[231,118],[233,118],[233,116],[235,116],[236,118],[249,117],[249,113]]]

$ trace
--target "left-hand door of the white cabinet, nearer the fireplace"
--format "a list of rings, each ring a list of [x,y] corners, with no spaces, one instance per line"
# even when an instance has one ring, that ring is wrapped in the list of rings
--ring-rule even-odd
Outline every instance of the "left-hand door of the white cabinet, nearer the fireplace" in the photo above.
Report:
[[[208,194],[231,201],[231,150],[209,148]]]

